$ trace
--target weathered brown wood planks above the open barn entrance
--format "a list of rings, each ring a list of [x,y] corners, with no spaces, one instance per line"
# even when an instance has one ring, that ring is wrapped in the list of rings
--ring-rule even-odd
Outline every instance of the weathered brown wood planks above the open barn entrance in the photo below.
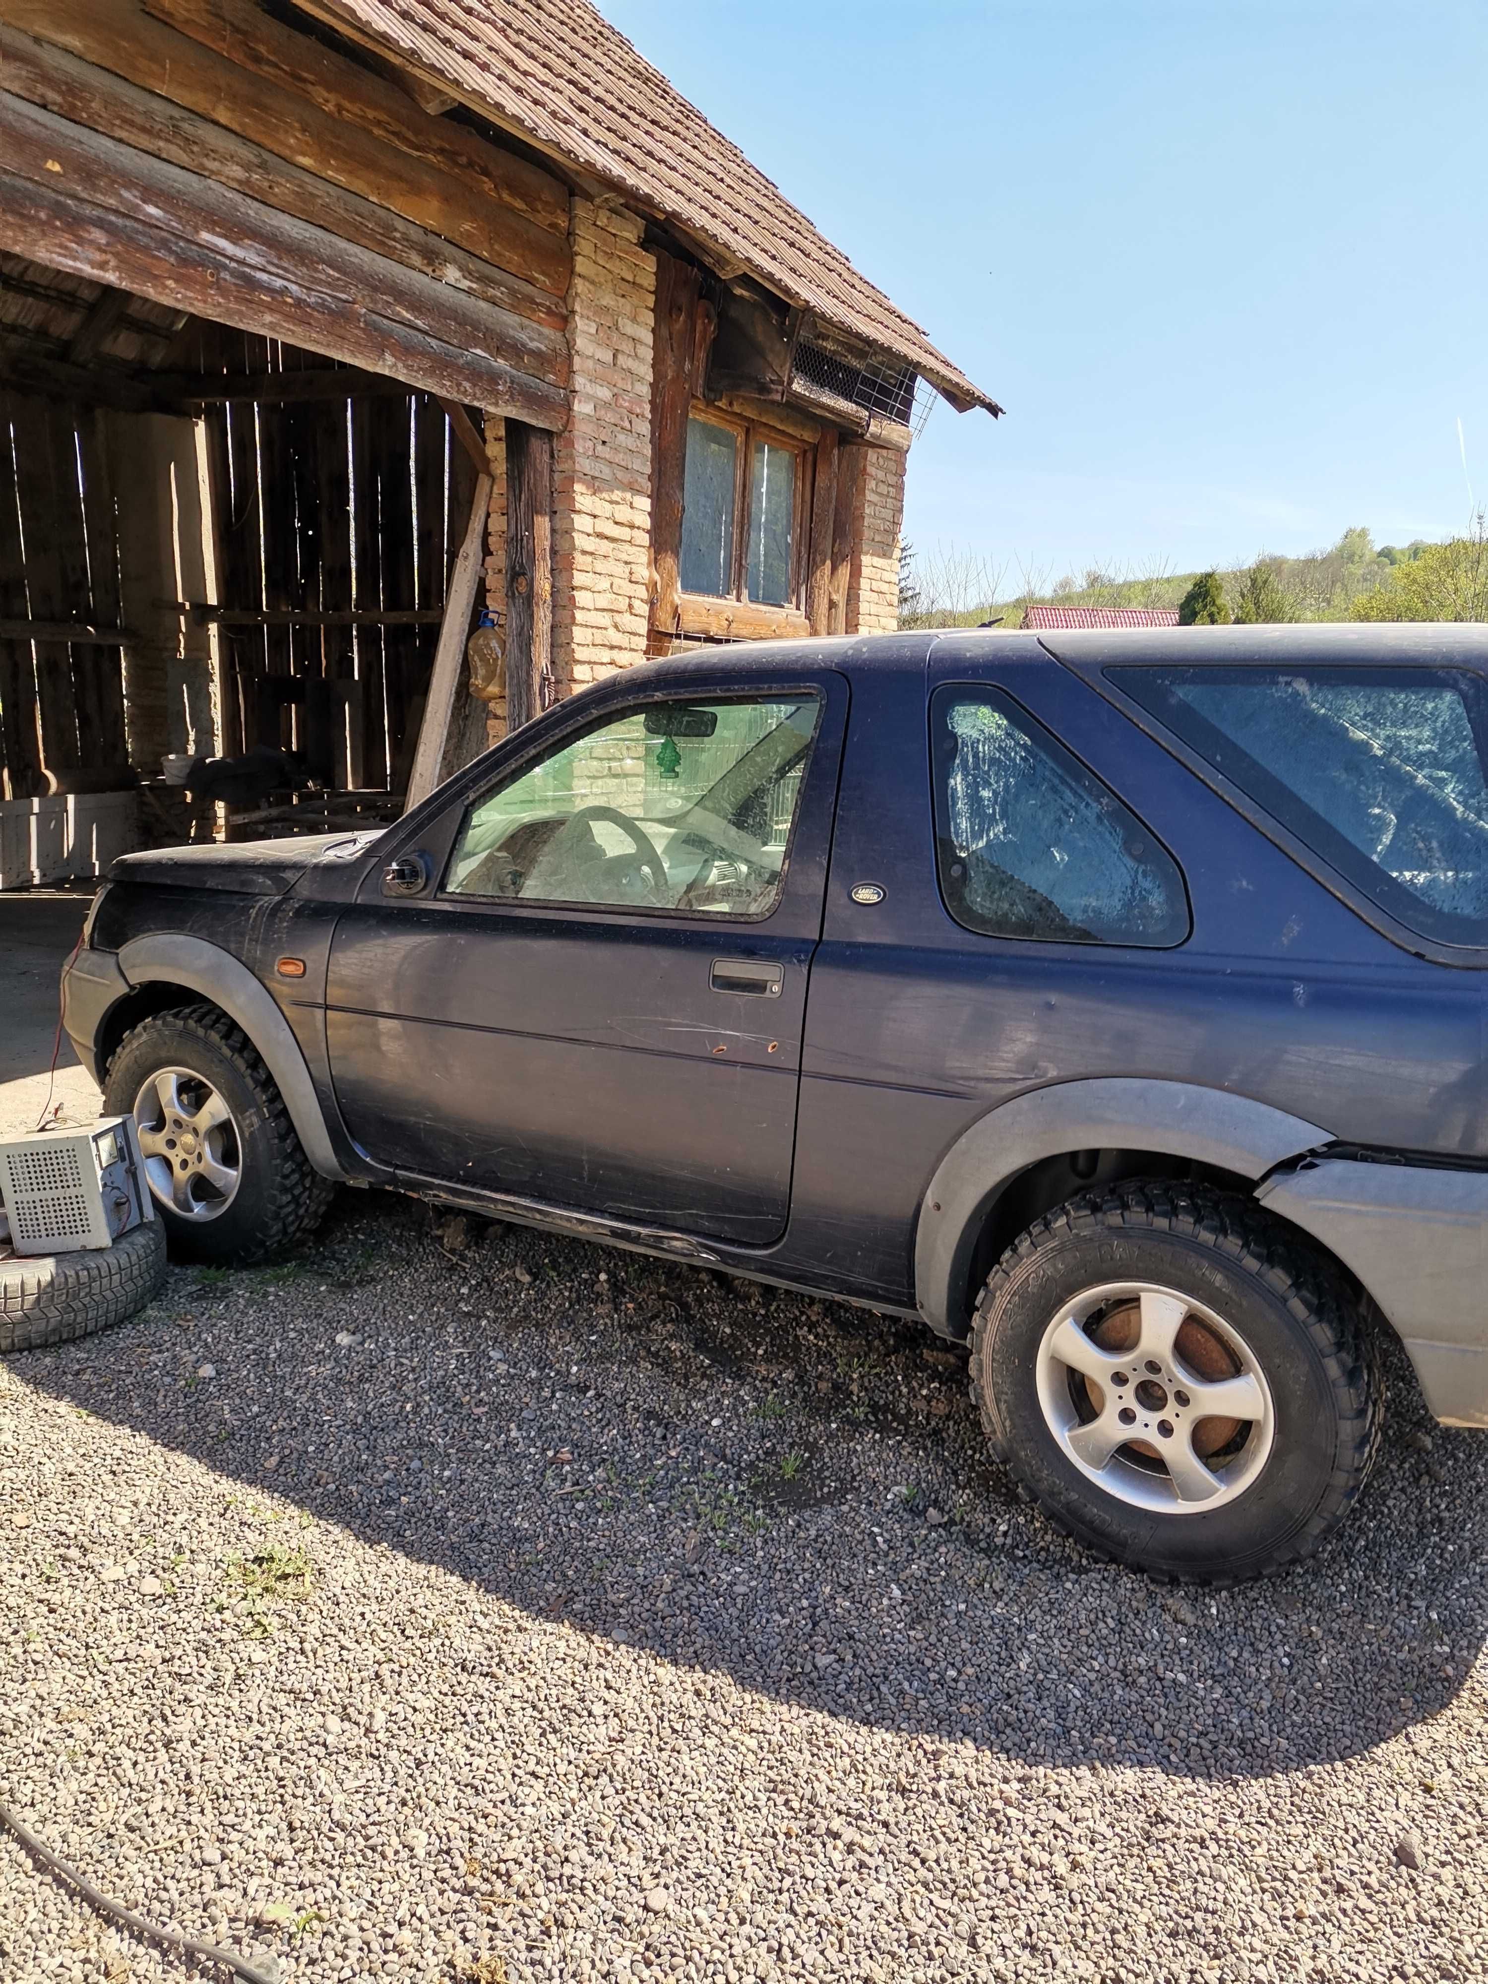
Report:
[[[0,0],[0,246],[567,417],[565,186],[248,0]]]

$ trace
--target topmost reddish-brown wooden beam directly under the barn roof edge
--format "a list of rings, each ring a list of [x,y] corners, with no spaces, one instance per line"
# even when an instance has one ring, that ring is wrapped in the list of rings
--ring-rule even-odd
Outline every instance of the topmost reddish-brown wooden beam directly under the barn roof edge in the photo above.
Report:
[[[117,4],[117,0],[111,0]],[[552,234],[567,238],[567,186],[540,165],[498,149],[464,125],[417,109],[411,89],[391,77],[369,75],[323,42],[274,20],[252,0],[143,0],[145,12],[200,42],[252,75],[292,97],[304,97],[341,125],[373,133],[385,145],[448,173],[526,214]],[[452,103],[444,97],[444,107]],[[411,109],[411,103],[415,105]]]

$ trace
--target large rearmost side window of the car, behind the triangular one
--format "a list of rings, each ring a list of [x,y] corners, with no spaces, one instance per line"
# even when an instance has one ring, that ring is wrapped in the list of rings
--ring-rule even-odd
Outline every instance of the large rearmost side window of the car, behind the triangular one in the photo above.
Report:
[[[1484,682],[1460,669],[1111,669],[1409,930],[1488,944]]]

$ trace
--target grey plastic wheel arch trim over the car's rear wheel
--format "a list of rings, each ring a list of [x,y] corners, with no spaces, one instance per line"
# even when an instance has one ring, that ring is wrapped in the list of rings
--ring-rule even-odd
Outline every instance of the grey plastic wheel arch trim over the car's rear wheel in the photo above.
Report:
[[[1014,1095],[946,1151],[915,1228],[915,1300],[940,1335],[964,1335],[978,1236],[1008,1184],[1065,1151],[1153,1151],[1262,1178],[1331,1133],[1270,1103],[1188,1081],[1059,1081]]]

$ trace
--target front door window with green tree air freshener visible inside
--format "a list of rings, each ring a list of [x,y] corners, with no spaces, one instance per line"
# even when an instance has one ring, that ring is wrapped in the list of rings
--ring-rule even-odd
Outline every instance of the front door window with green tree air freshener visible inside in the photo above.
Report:
[[[819,710],[804,692],[611,716],[470,806],[444,893],[768,917]]]

